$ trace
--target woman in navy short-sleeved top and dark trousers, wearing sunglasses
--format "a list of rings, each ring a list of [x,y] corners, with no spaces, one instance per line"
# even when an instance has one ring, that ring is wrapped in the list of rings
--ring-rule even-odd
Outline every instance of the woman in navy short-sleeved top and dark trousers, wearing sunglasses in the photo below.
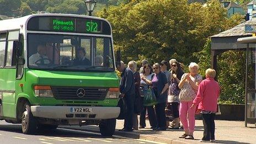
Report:
[[[153,130],[162,131],[166,130],[166,114],[164,109],[167,102],[167,89],[168,82],[166,74],[161,72],[159,63],[153,65],[154,75],[152,78],[152,89],[157,98],[156,115],[157,115],[157,128]]]

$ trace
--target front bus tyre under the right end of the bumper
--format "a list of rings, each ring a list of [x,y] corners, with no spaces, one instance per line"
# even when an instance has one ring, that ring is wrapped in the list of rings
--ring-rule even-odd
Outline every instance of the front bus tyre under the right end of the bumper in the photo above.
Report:
[[[115,132],[116,119],[102,120],[99,124],[100,134],[102,136],[112,136]]]

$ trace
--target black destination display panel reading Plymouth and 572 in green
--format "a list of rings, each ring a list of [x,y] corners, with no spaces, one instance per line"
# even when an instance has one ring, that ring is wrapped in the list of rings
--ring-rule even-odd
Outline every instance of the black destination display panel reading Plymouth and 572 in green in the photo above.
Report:
[[[77,17],[33,17],[29,19],[28,30],[111,34],[110,25],[104,20]]]

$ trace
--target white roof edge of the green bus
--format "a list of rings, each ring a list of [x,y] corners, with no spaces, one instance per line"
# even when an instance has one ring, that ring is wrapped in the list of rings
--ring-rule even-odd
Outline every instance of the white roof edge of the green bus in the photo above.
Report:
[[[8,31],[8,30],[14,30],[14,29],[20,29],[24,28],[28,20],[32,17],[40,17],[40,16],[62,16],[62,17],[78,17],[78,18],[92,18],[92,19],[99,19],[104,20],[109,25],[110,23],[108,20],[98,17],[92,17],[88,15],[78,15],[78,14],[61,14],[61,13],[44,13],[44,14],[30,14],[26,15],[24,17],[20,18],[13,18],[13,19],[7,19],[7,20],[0,20],[0,31]]]

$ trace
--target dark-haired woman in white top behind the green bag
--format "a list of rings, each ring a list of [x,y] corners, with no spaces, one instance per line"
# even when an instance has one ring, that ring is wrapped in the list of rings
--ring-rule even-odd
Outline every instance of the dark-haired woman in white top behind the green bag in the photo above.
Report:
[[[143,71],[140,74],[141,76],[141,87],[142,87],[142,93],[141,93],[141,102],[143,103],[143,95],[145,95],[145,93],[148,90],[148,87],[151,85],[151,80],[152,80],[152,74],[153,69],[150,65],[146,65],[143,67]],[[151,129],[156,128],[157,126],[157,118],[156,118],[156,113],[154,112],[154,108],[153,106],[143,106],[143,109],[141,111],[140,114],[140,129],[145,128],[146,127],[146,110],[148,112],[148,118],[150,119],[150,125],[151,125]]]

